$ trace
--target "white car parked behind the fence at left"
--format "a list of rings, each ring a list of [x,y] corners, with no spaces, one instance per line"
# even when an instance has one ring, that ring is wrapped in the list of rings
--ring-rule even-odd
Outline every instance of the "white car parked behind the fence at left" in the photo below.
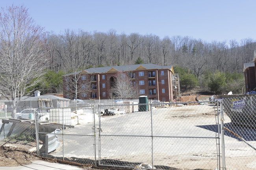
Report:
[[[18,119],[34,119],[35,114],[38,113],[39,121],[48,121],[49,115],[39,113],[37,109],[25,109],[22,110],[20,113],[16,113],[16,117]]]

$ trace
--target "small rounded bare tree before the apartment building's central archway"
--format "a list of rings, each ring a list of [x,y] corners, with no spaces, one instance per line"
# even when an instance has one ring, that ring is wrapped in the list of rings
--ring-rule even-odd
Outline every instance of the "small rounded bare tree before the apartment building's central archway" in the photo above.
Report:
[[[134,81],[130,79],[130,73],[118,72],[114,76],[114,81],[112,93],[118,99],[137,99],[139,89],[134,86]]]

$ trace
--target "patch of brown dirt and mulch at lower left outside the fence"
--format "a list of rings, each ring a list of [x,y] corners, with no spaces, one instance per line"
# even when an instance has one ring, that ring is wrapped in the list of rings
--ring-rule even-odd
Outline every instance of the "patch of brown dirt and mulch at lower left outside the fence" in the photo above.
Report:
[[[0,147],[0,166],[28,165],[36,160],[41,160],[41,158],[35,153],[12,146]]]

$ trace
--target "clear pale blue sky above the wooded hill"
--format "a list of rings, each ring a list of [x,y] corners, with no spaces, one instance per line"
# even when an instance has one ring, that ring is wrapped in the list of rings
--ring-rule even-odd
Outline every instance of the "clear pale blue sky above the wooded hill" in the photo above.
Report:
[[[1,0],[24,5],[45,31],[189,36],[208,42],[256,40],[255,0]]]

